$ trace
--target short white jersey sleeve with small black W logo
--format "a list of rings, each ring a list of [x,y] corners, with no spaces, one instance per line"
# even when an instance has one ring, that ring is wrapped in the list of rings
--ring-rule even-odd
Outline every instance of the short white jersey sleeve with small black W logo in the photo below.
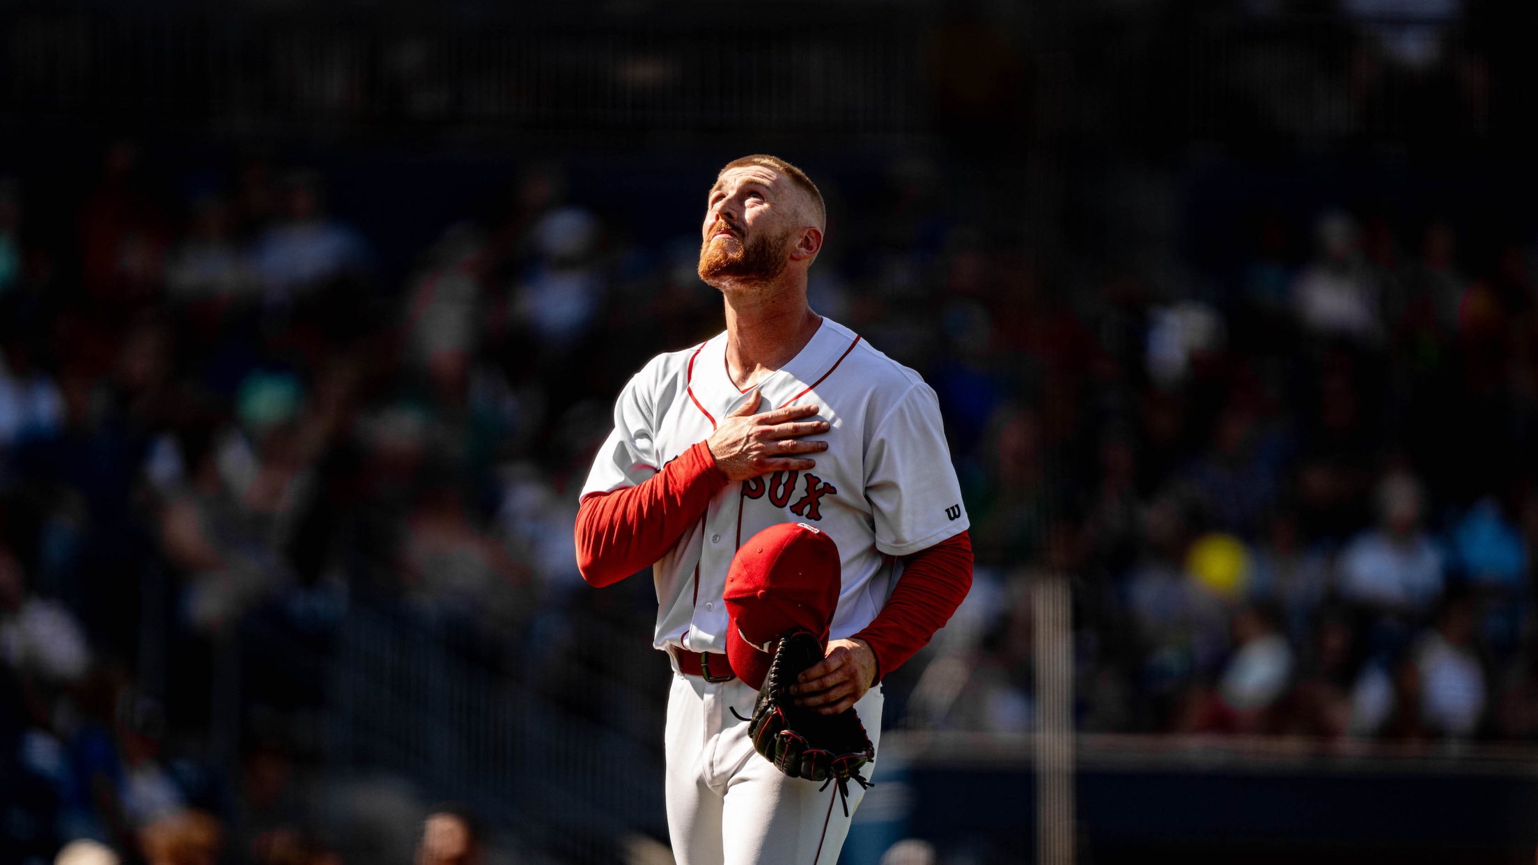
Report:
[[[866,449],[866,500],[875,546],[887,556],[918,553],[970,525],[929,385],[914,383],[877,426]]]

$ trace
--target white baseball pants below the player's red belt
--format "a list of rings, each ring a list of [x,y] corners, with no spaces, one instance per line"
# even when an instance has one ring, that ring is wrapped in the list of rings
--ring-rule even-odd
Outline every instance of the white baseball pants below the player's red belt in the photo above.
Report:
[[[747,722],[758,691],[674,673],[667,697],[667,834],[678,865],[834,865],[849,834],[837,785],[786,777],[754,751]],[[881,743],[881,686],[855,703]],[[880,751],[878,751],[880,754]],[[864,776],[877,763],[867,763]],[[849,783],[849,814],[864,797]]]

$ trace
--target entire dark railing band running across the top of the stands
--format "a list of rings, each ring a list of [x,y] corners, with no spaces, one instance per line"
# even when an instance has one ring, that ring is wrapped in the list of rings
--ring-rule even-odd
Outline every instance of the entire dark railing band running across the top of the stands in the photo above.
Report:
[[[967,97],[944,82],[986,89],[987,75],[1020,74],[1035,95],[984,111],[1001,128],[1034,114],[1049,137],[1318,146],[1487,131],[1489,88],[1456,22],[1420,23],[1436,60],[1397,72],[1372,31],[1403,23],[1392,18],[1144,20],[1063,6],[1055,35],[994,28],[1007,60],[995,66],[935,54],[980,28],[914,3],[823,5],[815,26],[703,6],[484,22],[23,6],[0,11],[0,112],[234,137],[926,137],[954,132],[949,111],[977,109],[949,105]],[[1504,86],[1526,105],[1526,82]]]

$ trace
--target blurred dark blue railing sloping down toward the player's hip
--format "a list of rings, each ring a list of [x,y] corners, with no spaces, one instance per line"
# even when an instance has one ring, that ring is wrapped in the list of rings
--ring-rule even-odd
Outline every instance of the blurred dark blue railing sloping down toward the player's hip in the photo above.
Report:
[[[354,608],[337,639],[326,762],[384,771],[574,860],[666,837],[655,748],[551,705],[432,630]]]

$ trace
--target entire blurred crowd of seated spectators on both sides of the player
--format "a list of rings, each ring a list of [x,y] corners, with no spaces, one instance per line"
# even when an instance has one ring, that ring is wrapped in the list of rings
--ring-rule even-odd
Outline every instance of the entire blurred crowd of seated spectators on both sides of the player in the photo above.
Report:
[[[317,171],[141,157],[82,165],[66,220],[0,183],[15,860],[332,862],[303,659],[360,605],[584,717],[595,680],[655,693],[626,705],[660,742],[651,586],[588,589],[572,522],[623,382],[721,328],[692,223],[646,240],[535,163],[395,274]],[[1524,239],[1472,257],[1449,220],[1257,208],[1243,266],[1183,292],[1043,265],[964,206],[975,174],[812,168],[812,306],[934,385],[972,514],[974,593],[887,679],[887,725],[1029,730],[1027,588],[1058,574],[1081,730],[1538,734]]]

